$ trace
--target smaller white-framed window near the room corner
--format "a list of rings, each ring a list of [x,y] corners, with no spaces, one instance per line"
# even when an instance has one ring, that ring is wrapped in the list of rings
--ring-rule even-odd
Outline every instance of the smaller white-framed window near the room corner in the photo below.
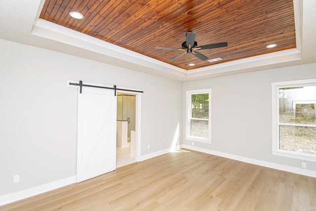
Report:
[[[210,99],[211,89],[187,91],[188,140],[211,143]]]

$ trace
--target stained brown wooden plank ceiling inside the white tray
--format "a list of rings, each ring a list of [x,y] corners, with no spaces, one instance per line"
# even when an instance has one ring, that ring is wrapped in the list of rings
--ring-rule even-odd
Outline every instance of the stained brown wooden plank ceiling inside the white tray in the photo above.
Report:
[[[46,0],[40,18],[185,70],[296,47],[292,0]],[[171,62],[183,51],[155,49],[181,48],[187,32],[196,33],[198,46],[228,42],[198,50],[223,60],[187,53]]]

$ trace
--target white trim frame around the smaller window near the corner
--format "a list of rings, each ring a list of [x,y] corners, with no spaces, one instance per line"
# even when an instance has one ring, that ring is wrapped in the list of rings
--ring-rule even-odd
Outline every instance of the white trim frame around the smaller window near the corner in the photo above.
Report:
[[[186,91],[186,139],[191,140],[191,141],[198,141],[198,142],[203,142],[203,143],[211,143],[211,90],[210,88],[208,89],[198,89],[198,90],[189,90]],[[196,137],[196,136],[191,136],[190,131],[191,131],[191,124],[190,120],[195,119],[195,118],[190,118],[191,117],[191,94],[206,94],[208,93],[208,138],[201,138],[201,137]],[[200,119],[198,119],[200,120]],[[207,119],[205,119],[207,121]]]

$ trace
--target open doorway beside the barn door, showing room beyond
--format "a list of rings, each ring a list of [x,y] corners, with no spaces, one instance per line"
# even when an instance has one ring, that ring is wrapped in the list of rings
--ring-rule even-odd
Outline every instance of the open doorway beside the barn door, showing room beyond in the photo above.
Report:
[[[118,92],[117,94],[117,154],[116,167],[137,161],[137,94]]]

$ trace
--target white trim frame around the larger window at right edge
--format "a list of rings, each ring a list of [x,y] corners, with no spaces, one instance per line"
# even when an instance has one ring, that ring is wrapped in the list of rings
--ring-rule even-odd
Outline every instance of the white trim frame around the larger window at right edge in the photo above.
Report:
[[[313,161],[316,162],[316,155],[308,154],[308,153],[301,153],[301,152],[292,152],[288,150],[281,150],[279,148],[279,126],[280,125],[290,125],[294,126],[296,124],[279,124],[279,96],[278,96],[278,89],[284,87],[293,87],[293,86],[306,86],[306,85],[316,85],[316,79],[309,79],[309,80],[299,80],[299,81],[288,81],[288,82],[276,82],[271,83],[272,86],[272,154],[282,157],[288,158],[295,158],[305,161]],[[314,127],[313,125],[299,125],[301,127]]]

